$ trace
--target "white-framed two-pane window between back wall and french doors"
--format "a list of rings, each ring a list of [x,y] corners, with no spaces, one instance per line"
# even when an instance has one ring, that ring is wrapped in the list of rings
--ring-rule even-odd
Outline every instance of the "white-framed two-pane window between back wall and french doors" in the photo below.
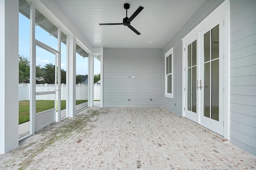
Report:
[[[165,94],[167,98],[173,98],[173,47],[165,56]]]

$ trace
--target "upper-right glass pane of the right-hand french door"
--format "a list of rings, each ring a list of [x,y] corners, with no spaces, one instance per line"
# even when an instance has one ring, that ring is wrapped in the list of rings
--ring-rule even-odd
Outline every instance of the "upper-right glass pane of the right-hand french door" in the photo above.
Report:
[[[212,29],[212,60],[219,58],[219,25]]]

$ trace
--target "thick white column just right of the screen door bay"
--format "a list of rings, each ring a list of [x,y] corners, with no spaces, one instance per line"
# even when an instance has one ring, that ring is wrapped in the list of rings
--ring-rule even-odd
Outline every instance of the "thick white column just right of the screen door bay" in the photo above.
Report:
[[[76,115],[76,37],[67,35],[67,113]]]

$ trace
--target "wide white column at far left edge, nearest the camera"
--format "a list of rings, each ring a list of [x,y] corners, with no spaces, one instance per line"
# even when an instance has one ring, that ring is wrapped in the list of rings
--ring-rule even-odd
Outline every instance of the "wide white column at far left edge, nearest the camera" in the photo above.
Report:
[[[0,154],[18,147],[19,1],[0,0]]]

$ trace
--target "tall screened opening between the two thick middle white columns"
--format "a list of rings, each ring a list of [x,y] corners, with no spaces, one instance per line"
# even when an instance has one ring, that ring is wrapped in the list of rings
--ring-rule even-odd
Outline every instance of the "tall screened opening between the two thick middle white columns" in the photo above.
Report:
[[[88,53],[76,44],[76,111],[88,106]]]

